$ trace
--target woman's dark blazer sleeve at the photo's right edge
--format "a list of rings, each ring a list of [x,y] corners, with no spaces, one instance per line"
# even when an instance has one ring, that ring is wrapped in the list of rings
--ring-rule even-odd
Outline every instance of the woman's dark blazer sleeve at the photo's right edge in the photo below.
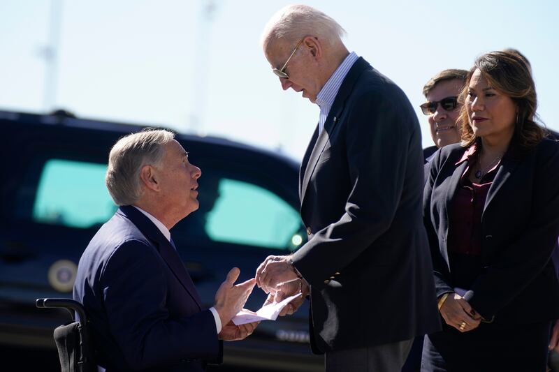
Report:
[[[486,267],[472,285],[472,307],[492,319],[509,304],[549,262],[559,235],[559,151],[542,156],[537,162],[532,215],[528,227],[504,248],[493,265]],[[522,191],[518,191],[521,195]],[[502,223],[507,223],[502,216]]]

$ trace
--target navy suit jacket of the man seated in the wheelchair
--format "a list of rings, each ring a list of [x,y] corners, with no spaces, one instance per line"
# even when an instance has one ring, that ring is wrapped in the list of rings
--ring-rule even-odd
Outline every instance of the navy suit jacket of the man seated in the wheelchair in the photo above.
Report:
[[[175,248],[149,218],[120,207],[85,249],[74,299],[107,371],[203,371],[219,359],[215,319]]]

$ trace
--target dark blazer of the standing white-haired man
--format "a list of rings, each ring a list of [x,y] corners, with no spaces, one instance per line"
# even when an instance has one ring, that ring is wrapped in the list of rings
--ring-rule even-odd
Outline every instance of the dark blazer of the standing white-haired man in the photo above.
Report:
[[[440,329],[422,193],[421,131],[412,105],[360,58],[300,169],[309,241],[293,263],[311,285],[315,352]]]

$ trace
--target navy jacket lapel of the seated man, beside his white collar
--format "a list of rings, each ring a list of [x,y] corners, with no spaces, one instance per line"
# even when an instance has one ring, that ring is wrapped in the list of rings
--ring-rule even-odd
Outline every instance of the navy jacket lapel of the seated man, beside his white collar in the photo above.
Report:
[[[161,233],[156,225],[150,221],[147,216],[138,209],[131,206],[120,207],[119,211],[129,218],[129,220],[136,225],[136,227],[142,232],[142,234],[150,239],[157,247],[157,251],[161,255],[161,258],[165,261],[170,271],[173,272],[178,281],[182,284],[189,295],[194,299],[194,302],[198,305],[198,308],[202,310],[200,295],[194,287],[194,283],[188,274],[187,269],[182,263],[180,255],[177,253],[175,248],[170,244],[166,237]]]

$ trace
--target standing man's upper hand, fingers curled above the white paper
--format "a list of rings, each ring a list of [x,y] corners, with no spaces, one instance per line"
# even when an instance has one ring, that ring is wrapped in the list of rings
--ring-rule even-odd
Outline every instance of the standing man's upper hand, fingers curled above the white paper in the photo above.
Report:
[[[266,293],[275,292],[279,283],[296,279],[289,255],[269,255],[256,269],[256,284]]]

